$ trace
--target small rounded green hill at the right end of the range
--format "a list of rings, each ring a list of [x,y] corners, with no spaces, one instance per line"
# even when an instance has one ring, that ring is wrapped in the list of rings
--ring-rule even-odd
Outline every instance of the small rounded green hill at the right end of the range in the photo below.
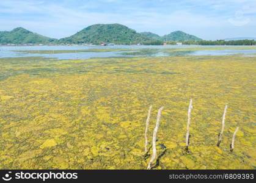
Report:
[[[180,30],[164,35],[162,38],[164,41],[200,41],[202,40],[194,35],[186,34],[185,32],[182,32]]]

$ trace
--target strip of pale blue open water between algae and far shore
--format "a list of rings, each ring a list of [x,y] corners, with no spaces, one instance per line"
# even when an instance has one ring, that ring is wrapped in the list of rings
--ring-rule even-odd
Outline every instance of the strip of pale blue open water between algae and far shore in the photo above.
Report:
[[[223,49],[223,48],[227,49]],[[180,49],[185,49],[184,51]],[[199,48],[198,50],[193,50],[193,48]],[[222,49],[212,49],[207,48],[222,48]],[[166,46],[0,46],[0,58],[5,57],[31,57],[31,56],[41,56],[48,58],[57,59],[90,59],[90,58],[104,58],[104,57],[169,57],[169,56],[224,56],[230,54],[256,54],[256,49],[230,49],[232,46],[199,46],[199,45],[166,45]],[[240,46],[243,48],[243,46]],[[246,48],[246,47],[244,47]],[[124,49],[125,51],[101,51],[101,52],[71,52],[71,53],[59,53],[54,54],[56,50],[87,50],[87,49]],[[127,51],[127,49],[129,51]],[[167,49],[169,51],[167,51]],[[172,51],[172,49],[174,49]],[[177,49],[177,51],[175,51]],[[200,50],[202,49],[202,50]],[[42,51],[48,50],[53,52],[51,54],[40,54],[40,53],[26,53],[17,52],[24,50],[34,50]]]

